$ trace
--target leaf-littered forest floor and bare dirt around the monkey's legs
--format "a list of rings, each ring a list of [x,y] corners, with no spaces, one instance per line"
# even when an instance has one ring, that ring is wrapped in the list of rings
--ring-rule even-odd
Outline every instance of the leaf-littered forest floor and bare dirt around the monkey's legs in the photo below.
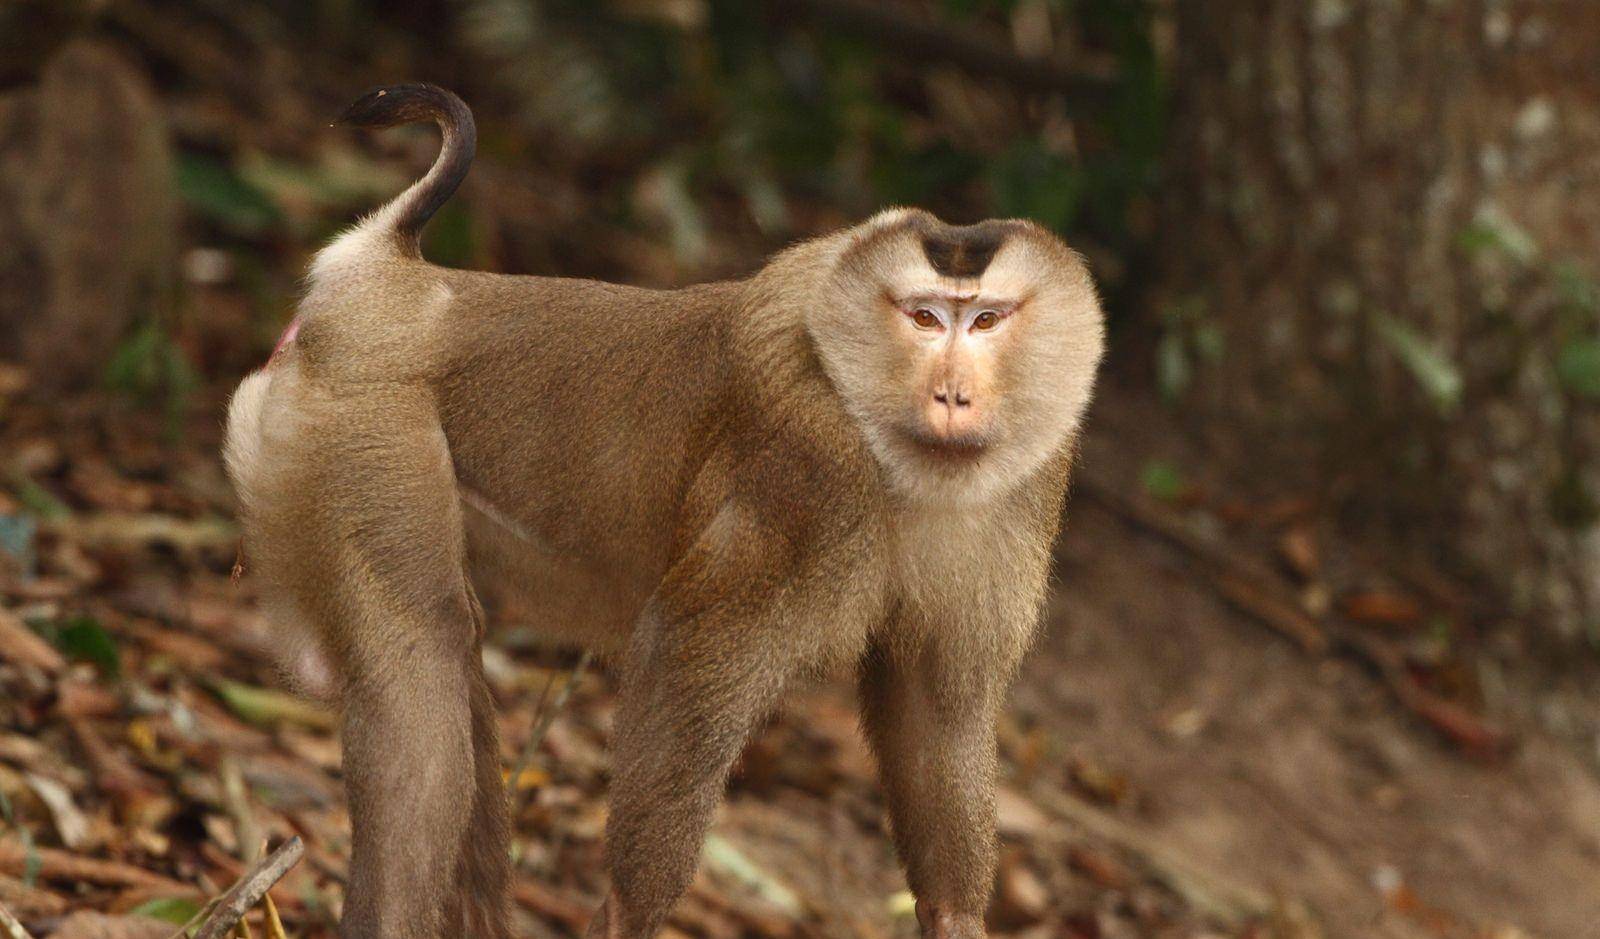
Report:
[[[5,408],[0,905],[37,936],[166,936],[298,833],[274,899],[290,934],[331,936],[336,718],[274,689],[274,637],[248,574],[232,582],[219,411],[168,445],[104,400]],[[1451,587],[1350,574],[1338,558],[1358,553],[1306,501],[1152,497],[1150,459],[1203,466],[1181,440],[1138,395],[1096,405],[1002,728],[994,933],[1600,936],[1600,777],[1528,717],[1560,701],[1453,677],[1427,613]],[[506,629],[486,654],[507,768],[565,673],[526,640]],[[512,779],[520,936],[578,934],[602,889],[613,685],[574,688]],[[750,744],[672,929],[915,933],[845,677],[798,689]]]

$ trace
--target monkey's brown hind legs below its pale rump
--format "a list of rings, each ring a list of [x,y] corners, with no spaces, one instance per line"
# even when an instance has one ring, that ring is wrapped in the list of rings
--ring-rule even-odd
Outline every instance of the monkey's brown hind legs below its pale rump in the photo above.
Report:
[[[438,419],[394,386],[301,405],[285,488],[298,501],[264,505],[258,528],[342,683],[354,846],[341,931],[504,937],[499,745]]]

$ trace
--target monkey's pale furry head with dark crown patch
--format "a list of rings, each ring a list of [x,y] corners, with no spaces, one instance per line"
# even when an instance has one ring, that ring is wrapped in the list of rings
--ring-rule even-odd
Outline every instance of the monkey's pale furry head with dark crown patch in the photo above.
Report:
[[[845,232],[806,328],[902,493],[971,502],[1082,421],[1104,346],[1083,259],[1027,221],[891,210]]]

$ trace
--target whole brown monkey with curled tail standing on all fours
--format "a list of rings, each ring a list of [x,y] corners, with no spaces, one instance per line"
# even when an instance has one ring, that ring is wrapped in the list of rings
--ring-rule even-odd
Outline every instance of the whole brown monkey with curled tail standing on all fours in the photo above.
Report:
[[[224,451],[267,614],[338,675],[342,934],[507,936],[482,566],[619,677],[586,936],[658,933],[746,737],[830,669],[922,936],[986,936],[995,721],[1104,346],[1082,256],[891,208],[680,290],[445,269],[418,238],[470,165],[466,104],[395,85],[341,120],[434,122],[440,154],[314,258]]]

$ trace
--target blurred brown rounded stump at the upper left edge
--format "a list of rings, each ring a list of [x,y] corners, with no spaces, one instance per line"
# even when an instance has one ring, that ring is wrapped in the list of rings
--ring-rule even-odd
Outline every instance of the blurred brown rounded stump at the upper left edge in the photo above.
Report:
[[[155,93],[72,40],[0,94],[0,358],[42,389],[93,384],[171,275],[173,160]]]

